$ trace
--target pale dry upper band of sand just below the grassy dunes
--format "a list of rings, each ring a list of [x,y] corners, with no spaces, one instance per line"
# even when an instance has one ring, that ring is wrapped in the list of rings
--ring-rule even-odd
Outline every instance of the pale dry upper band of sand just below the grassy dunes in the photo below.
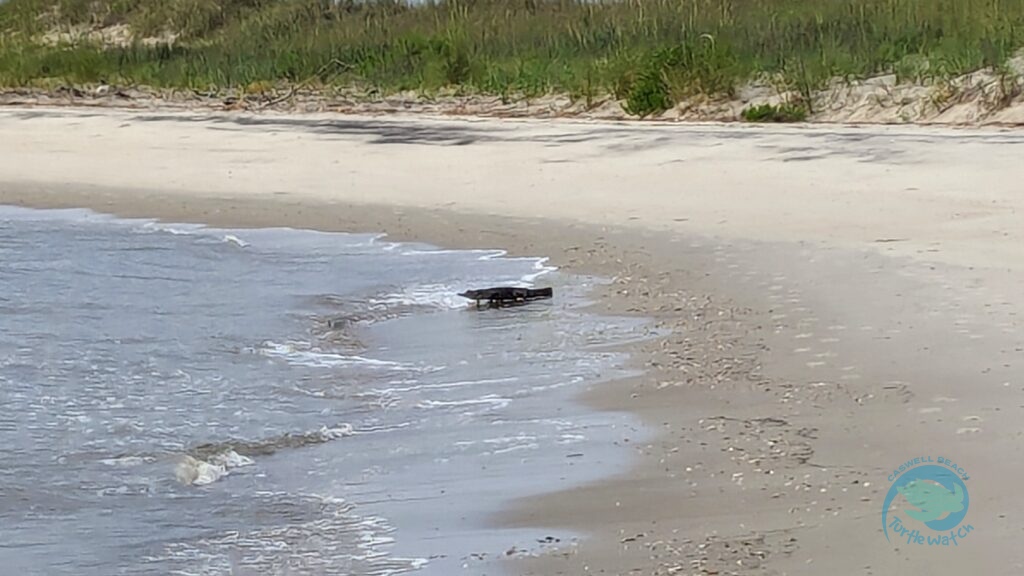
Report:
[[[7,182],[154,189],[1024,255],[1024,134],[10,110]],[[424,177],[429,175],[429,177]]]

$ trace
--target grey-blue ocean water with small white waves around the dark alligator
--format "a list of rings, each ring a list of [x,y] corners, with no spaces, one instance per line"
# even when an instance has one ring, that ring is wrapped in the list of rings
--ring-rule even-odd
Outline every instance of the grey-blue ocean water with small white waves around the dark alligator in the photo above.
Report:
[[[381,236],[0,208],[0,572],[497,574],[564,544],[494,527],[627,463],[637,423],[571,397],[649,330],[584,310],[594,282]],[[456,295],[494,284],[556,298]]]

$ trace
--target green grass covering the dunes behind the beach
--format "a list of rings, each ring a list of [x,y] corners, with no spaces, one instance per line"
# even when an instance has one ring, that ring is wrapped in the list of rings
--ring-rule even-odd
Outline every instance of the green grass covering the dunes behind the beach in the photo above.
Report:
[[[118,25],[134,41],[46,41]],[[1024,46],[1024,2],[8,0],[0,31],[5,86],[613,93],[645,115],[730,96],[755,78],[810,94],[835,78],[998,68]],[[176,40],[143,42],[167,35]]]

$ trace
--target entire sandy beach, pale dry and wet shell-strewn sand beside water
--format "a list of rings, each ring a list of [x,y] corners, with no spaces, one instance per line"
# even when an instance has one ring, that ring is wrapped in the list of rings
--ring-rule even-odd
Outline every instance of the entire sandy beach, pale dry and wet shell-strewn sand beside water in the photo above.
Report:
[[[623,430],[628,474],[496,518],[591,535],[511,574],[1024,570],[1020,131],[8,108],[0,133],[2,204],[386,232],[612,279],[597,307],[671,333],[583,400],[652,435]],[[920,457],[969,477],[955,543],[883,534]]]

